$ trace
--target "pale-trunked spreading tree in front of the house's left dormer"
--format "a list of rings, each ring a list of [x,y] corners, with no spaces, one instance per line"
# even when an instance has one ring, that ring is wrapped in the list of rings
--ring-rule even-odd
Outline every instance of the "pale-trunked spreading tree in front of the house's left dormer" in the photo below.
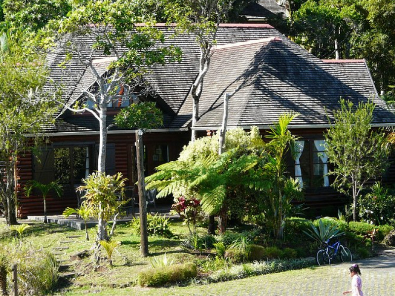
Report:
[[[113,126],[107,123],[108,105],[129,101],[132,93],[137,97],[146,95],[148,85],[142,75],[150,66],[175,61],[180,54],[175,48],[156,46],[164,41],[163,32],[149,26],[151,16],[136,14],[139,3],[132,0],[86,1],[66,18],[49,23],[44,32],[46,37],[41,38],[42,45],[57,45],[56,49],[66,53],[62,66],[67,68],[68,59],[78,59],[93,78],[92,87],[79,90],[83,94],[82,101],[68,102],[66,108],[89,112],[98,120],[100,173],[105,172],[107,132]],[[144,22],[146,26],[135,25]],[[98,62],[98,56],[108,58]],[[101,71],[103,63],[107,65],[104,74]],[[101,216],[99,240],[105,240],[105,222],[100,219]]]

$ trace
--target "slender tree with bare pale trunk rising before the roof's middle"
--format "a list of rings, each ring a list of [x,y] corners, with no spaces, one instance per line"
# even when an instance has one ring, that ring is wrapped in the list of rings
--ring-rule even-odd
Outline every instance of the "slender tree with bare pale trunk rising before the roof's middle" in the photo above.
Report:
[[[234,0],[187,0],[169,1],[167,6],[170,20],[177,23],[182,33],[193,34],[200,49],[199,72],[191,86],[193,99],[192,127],[199,119],[199,100],[203,91],[203,81],[210,67],[212,47],[215,45],[219,24],[226,20]],[[192,129],[191,140],[196,140],[196,130]]]

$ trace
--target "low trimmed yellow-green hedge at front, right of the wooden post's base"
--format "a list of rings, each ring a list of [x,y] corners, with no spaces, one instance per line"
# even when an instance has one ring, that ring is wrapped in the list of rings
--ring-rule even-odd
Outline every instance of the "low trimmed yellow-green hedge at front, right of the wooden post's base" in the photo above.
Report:
[[[196,276],[197,267],[190,262],[142,271],[139,273],[138,283],[141,287],[159,287],[186,281]]]

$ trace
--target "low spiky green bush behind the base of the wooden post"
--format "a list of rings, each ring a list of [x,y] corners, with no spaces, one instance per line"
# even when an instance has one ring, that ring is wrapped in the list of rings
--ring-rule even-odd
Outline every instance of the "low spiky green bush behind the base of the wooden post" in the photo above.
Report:
[[[166,238],[173,237],[174,234],[170,230],[169,221],[169,218],[165,218],[159,214],[147,214],[148,235],[156,235]],[[129,225],[134,234],[140,235],[140,218],[134,218],[132,221],[130,221]]]

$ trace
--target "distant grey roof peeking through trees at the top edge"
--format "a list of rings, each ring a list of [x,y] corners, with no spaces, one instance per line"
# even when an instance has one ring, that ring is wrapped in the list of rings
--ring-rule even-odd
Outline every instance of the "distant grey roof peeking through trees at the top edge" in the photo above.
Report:
[[[249,22],[266,21],[275,16],[281,16],[286,19],[287,11],[279,5],[276,0],[256,0],[248,3],[241,11]]]

